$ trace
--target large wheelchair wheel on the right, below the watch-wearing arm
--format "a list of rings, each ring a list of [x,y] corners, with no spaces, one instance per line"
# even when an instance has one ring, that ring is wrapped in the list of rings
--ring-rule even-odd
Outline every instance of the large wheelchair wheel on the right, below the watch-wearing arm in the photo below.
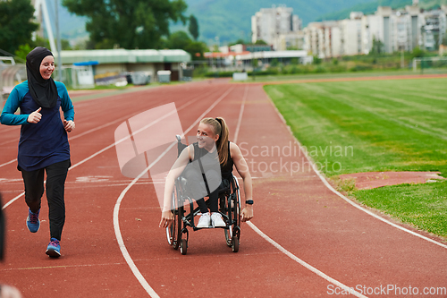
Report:
[[[239,251],[240,237],[240,192],[239,183],[235,177],[232,177],[231,193],[227,197],[225,211],[230,221],[228,228],[223,230],[226,244],[232,247],[232,251],[237,252]],[[234,249],[234,245],[237,245],[236,249]]]

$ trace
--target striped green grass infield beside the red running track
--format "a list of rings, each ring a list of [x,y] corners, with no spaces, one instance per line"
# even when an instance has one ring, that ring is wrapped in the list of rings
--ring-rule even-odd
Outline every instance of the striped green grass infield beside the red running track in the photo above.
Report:
[[[447,79],[265,86],[326,176],[439,171],[447,177]],[[436,191],[434,192],[434,188]],[[413,226],[447,236],[447,183],[353,190]]]

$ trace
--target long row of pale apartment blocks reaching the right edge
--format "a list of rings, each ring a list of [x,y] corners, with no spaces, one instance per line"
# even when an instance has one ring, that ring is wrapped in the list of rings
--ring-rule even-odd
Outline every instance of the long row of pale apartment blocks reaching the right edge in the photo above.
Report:
[[[353,12],[350,19],[342,21],[311,22],[303,30],[304,49],[320,58],[367,55],[376,40],[385,53],[411,51],[415,47],[434,50],[441,45],[447,30],[446,13],[447,5],[424,12],[414,1],[401,10],[379,6],[375,14]]]

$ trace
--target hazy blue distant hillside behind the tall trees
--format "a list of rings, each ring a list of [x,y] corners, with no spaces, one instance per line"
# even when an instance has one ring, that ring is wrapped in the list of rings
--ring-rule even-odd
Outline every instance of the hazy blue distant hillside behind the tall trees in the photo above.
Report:
[[[215,43],[219,37],[221,44],[239,38],[249,40],[251,34],[251,16],[261,8],[276,4],[285,4],[293,8],[303,24],[315,21],[321,15],[350,7],[352,4],[365,4],[370,0],[185,0],[188,4],[187,15],[194,14],[198,19],[200,40],[208,44]],[[62,0],[59,0],[62,2]],[[53,14],[54,2],[48,3],[49,13]],[[63,38],[73,39],[86,36],[85,19],[68,13],[66,8],[59,10]],[[187,30],[181,24],[173,24],[171,31]]]

